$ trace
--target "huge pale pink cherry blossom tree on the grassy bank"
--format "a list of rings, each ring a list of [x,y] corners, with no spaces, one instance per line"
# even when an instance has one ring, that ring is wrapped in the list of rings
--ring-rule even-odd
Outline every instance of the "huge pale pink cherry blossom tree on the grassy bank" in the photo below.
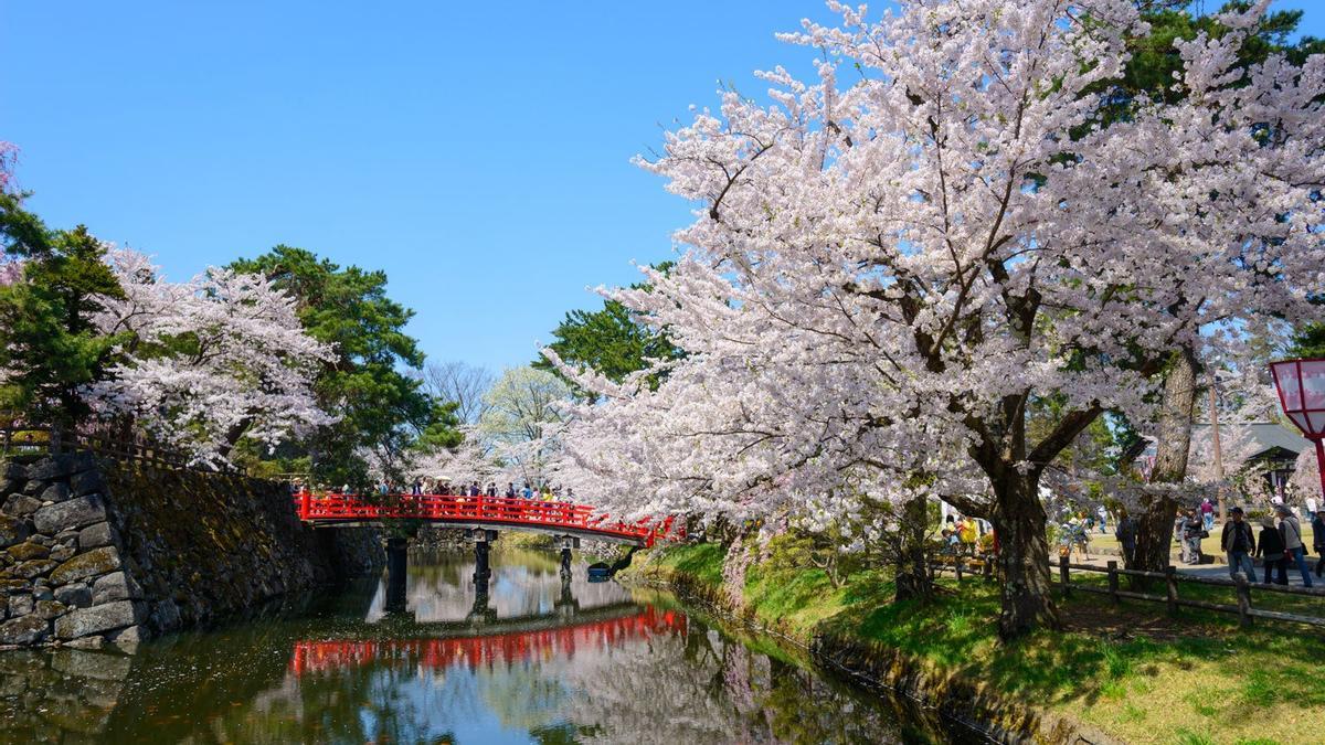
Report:
[[[1000,632],[1057,623],[1045,467],[1104,411],[1143,420],[1170,350],[1308,317],[1325,284],[1325,60],[1236,68],[1267,4],[1175,44],[1181,101],[1109,121],[1130,0],[904,0],[877,23],[829,3],[839,27],[784,36],[823,52],[818,81],[762,73],[767,103],[725,91],[640,160],[701,208],[652,292],[606,294],[685,357],[575,378],[606,402],[566,435],[613,485],[595,502],[751,517],[851,513],[857,484],[946,492],[998,530]],[[971,471],[984,488],[941,484]]]

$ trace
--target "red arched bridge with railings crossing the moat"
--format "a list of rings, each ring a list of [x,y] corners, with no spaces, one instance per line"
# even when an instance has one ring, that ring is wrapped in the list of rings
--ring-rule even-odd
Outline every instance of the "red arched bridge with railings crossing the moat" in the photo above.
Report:
[[[294,494],[299,520],[314,525],[363,525],[383,520],[425,520],[456,528],[527,530],[635,546],[676,540],[672,520],[623,522],[588,505],[460,494]]]

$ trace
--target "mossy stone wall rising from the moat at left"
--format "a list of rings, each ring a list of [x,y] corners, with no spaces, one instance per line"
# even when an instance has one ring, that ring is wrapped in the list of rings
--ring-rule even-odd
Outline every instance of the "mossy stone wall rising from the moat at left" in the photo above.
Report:
[[[132,646],[383,563],[242,476],[61,455],[5,464],[0,498],[0,646]]]

